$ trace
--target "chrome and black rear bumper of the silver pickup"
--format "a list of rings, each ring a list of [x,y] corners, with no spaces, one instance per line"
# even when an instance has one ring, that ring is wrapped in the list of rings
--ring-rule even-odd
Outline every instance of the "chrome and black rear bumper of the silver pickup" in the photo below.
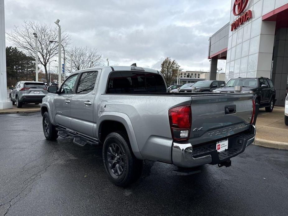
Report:
[[[197,167],[204,164],[218,164],[244,152],[245,148],[254,142],[256,127],[229,137],[228,150],[218,153],[216,141],[192,146],[191,143],[173,143],[172,163],[179,167]],[[240,141],[242,143],[239,143]]]

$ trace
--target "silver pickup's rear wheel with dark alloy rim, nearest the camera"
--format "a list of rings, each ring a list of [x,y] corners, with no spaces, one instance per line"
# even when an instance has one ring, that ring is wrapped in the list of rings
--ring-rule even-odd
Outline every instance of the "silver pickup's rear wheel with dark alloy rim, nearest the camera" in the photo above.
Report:
[[[139,179],[143,161],[134,156],[125,133],[108,134],[102,155],[105,171],[115,185],[125,187]]]

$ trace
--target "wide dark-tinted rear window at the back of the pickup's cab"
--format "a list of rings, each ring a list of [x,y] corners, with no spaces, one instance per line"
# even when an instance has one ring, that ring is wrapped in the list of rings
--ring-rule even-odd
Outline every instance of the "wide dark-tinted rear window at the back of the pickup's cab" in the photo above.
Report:
[[[107,93],[146,93],[167,92],[164,80],[160,74],[117,71],[110,74]]]

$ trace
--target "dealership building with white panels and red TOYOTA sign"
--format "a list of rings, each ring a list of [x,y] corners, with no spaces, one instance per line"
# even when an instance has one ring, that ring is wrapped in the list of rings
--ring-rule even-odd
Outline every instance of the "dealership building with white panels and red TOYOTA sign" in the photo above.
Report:
[[[209,38],[210,79],[217,60],[226,59],[225,81],[268,77],[276,88],[276,105],[288,89],[288,0],[232,0],[230,21]]]

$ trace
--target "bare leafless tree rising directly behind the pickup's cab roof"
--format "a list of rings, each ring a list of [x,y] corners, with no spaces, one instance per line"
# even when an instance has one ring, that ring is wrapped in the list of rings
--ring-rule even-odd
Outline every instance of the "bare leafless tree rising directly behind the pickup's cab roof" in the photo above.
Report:
[[[71,54],[72,57],[72,68],[74,71],[78,71],[84,68],[104,66],[105,61],[102,58],[102,54],[98,53],[97,49],[90,47],[72,47],[68,50],[66,62],[70,63]],[[66,67],[67,68],[67,67]],[[71,66],[67,68],[70,70]]]

